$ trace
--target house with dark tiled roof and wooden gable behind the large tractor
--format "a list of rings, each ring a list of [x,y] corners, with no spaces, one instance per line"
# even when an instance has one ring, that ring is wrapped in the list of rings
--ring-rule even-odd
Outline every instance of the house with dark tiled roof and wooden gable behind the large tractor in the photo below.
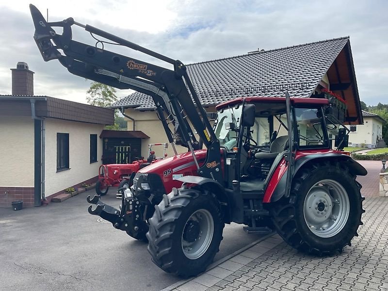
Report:
[[[346,124],[363,123],[349,37],[190,64],[187,72],[208,112],[235,97],[279,97],[287,89],[291,97],[308,98],[324,88],[346,100]],[[124,111],[128,128],[143,131],[150,137],[149,143],[167,141],[150,96],[136,92],[111,108]],[[172,149],[168,154],[173,154]]]

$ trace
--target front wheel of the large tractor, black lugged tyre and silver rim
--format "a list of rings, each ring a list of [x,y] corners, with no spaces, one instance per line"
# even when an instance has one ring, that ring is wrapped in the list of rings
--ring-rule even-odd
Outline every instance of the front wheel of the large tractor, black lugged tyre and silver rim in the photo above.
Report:
[[[149,220],[148,252],[162,270],[180,276],[205,271],[219,251],[224,221],[213,194],[173,188]]]

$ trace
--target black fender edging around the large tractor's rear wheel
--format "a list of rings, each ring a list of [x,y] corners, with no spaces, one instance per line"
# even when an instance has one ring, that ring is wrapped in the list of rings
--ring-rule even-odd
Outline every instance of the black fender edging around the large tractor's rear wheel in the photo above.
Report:
[[[336,161],[345,164],[352,175],[355,176],[366,176],[368,174],[367,170],[360,165],[358,162],[353,160],[350,156],[338,153],[328,153],[328,154],[311,154],[302,156],[295,161],[294,165],[294,173],[292,178],[298,173],[298,171],[305,166],[307,163],[314,162],[322,162],[322,161]],[[279,200],[285,194],[286,189],[286,180],[287,180],[287,170],[280,178],[279,182],[276,185],[275,191],[270,197],[264,196],[263,202],[275,202]]]

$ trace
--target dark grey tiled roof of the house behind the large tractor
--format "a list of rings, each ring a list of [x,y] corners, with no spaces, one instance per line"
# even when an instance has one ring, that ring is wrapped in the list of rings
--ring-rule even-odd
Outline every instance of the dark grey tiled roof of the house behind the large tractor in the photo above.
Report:
[[[341,37],[293,47],[254,51],[190,64],[187,65],[187,72],[204,106],[235,97],[283,96],[284,89],[274,85],[303,83],[302,86],[287,89],[291,97],[310,97],[348,41],[349,37]],[[245,88],[252,89],[248,92],[230,91]],[[214,94],[216,91],[223,92]],[[138,92],[115,102],[112,108],[122,106],[136,110],[155,109],[152,98]]]

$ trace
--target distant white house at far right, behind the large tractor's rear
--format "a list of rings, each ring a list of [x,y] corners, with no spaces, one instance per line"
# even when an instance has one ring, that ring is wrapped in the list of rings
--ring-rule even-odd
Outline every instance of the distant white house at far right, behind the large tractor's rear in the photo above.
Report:
[[[364,124],[347,126],[350,129],[349,146],[374,148],[382,139],[384,119],[377,114],[362,111]]]

